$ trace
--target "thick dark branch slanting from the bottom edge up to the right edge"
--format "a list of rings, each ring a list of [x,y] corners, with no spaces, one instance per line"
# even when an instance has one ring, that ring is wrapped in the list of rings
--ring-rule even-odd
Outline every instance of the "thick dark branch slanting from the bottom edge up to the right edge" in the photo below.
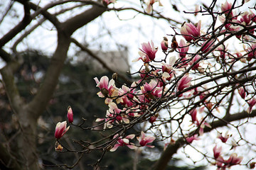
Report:
[[[223,127],[228,125],[228,123],[233,122],[235,120],[241,120],[244,118],[252,118],[256,116],[256,110],[252,111],[252,113],[248,114],[246,111],[241,113],[235,113],[233,115],[229,115],[221,120],[217,120],[211,123],[212,128],[204,128],[204,132],[210,132],[215,128]],[[192,132],[193,133],[193,132]],[[186,141],[183,138],[178,139],[174,145],[169,145],[166,150],[161,154],[160,159],[154,165],[154,170],[164,170],[169,162],[169,160],[173,157],[174,154],[178,151],[180,147],[186,145]]]

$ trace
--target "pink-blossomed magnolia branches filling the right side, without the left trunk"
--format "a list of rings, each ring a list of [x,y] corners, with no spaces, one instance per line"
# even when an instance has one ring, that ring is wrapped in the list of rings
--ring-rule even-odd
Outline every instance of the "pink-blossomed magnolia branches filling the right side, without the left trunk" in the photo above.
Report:
[[[148,2],[147,13],[151,13],[154,3]],[[203,26],[202,21],[184,22],[180,29],[172,27],[174,33],[164,37],[161,45],[142,43],[139,57],[133,60],[142,61],[133,73],[139,74],[139,80],[118,88],[118,74],[113,74],[112,79],[95,77],[100,90],[97,95],[105,98],[109,106],[105,118],[97,118],[98,124],[93,127],[85,122],[75,125],[69,108],[68,122],[72,128],[100,130],[107,135],[95,142],[82,139],[83,149],[78,152],[102,150],[95,164],[99,166],[105,152],[114,152],[118,147],[152,148],[152,142],[159,142],[164,151],[154,169],[165,169],[179,148],[193,147],[195,140],[206,140],[203,136],[213,131],[215,145],[208,146],[212,151],[195,147],[195,152],[216,169],[235,165],[254,169],[255,153],[242,154],[239,150],[255,149],[255,139],[242,130],[255,128],[255,6],[241,12],[245,1],[224,1],[220,8],[215,3],[193,12],[210,16],[210,26]],[[66,121],[56,125],[58,151],[65,147],[60,137],[70,128],[66,125]],[[136,125],[142,132],[129,134],[127,131]],[[228,128],[220,129],[223,126]],[[67,147],[65,150],[70,151]]]

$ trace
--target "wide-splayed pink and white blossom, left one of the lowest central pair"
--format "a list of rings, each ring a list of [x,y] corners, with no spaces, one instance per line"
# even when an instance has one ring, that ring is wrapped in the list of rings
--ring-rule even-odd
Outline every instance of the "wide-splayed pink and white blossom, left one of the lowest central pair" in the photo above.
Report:
[[[117,135],[114,135],[114,138],[117,138]],[[114,152],[118,147],[127,146],[129,149],[136,149],[136,146],[129,142],[129,140],[132,140],[135,137],[134,134],[128,135],[127,137],[118,137],[117,144],[114,145],[112,149],[110,149],[110,152]]]

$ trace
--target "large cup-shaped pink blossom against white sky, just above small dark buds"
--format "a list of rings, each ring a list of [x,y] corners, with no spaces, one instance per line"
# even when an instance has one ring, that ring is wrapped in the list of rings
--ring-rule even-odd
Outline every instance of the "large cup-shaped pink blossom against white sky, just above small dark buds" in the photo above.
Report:
[[[186,41],[191,41],[200,36],[200,30],[201,21],[197,23],[197,26],[194,26],[193,23],[184,23],[181,27],[181,34],[183,34],[183,38],[185,38]]]

